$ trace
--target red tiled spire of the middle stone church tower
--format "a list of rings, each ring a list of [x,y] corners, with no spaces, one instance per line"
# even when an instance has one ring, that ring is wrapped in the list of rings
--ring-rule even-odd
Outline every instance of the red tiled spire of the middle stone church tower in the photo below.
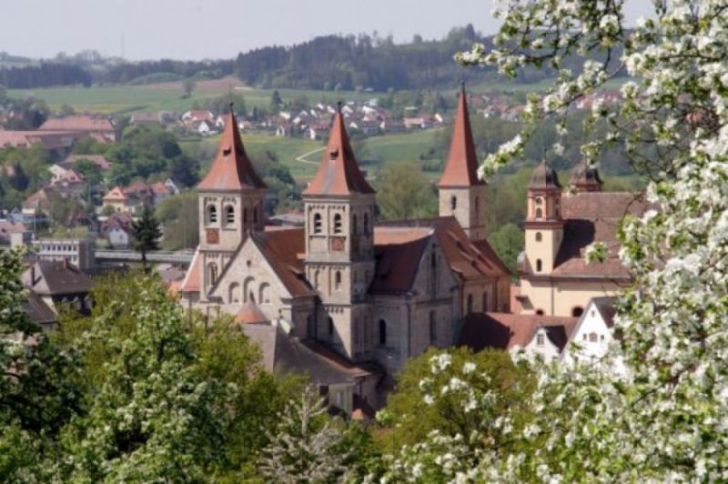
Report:
[[[359,170],[357,158],[349,145],[349,135],[344,126],[341,109],[334,117],[329,144],[321,157],[319,171],[316,172],[304,195],[344,196],[351,193],[375,193],[367,179]]]

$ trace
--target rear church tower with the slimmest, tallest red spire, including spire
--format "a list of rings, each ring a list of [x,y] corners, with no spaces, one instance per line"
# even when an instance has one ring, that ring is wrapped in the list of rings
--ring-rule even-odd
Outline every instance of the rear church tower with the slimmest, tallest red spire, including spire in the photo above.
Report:
[[[440,217],[453,216],[470,240],[485,238],[485,182],[478,177],[478,158],[470,129],[465,85],[450,141],[450,156],[440,182]]]

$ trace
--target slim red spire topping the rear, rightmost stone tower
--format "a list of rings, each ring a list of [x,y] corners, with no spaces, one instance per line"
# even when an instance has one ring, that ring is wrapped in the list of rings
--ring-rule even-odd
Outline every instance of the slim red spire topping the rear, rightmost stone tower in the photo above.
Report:
[[[458,114],[455,116],[455,127],[450,141],[450,156],[442,170],[438,187],[474,187],[485,185],[478,178],[478,157],[475,154],[475,143],[472,140],[468,102],[465,94],[465,83],[460,85]]]

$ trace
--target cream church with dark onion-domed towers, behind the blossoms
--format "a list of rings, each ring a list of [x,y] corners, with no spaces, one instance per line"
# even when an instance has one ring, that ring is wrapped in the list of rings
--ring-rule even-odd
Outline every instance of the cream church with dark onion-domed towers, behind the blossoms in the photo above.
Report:
[[[531,176],[524,224],[525,250],[519,257],[521,287],[513,292],[523,315],[578,318],[594,297],[614,296],[632,284],[619,258],[617,231],[622,218],[646,209],[640,194],[604,192],[595,167],[585,162],[563,190],[556,171],[541,162]],[[602,262],[587,264],[594,242],[607,247]]]

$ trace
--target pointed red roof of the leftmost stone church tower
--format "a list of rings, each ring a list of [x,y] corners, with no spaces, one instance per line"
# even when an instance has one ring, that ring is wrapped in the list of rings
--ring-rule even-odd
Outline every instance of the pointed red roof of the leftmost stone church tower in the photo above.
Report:
[[[253,169],[245,152],[243,140],[238,131],[238,120],[230,112],[225,116],[225,131],[222,134],[217,156],[210,166],[210,171],[199,185],[200,190],[252,190],[267,188],[263,180]]]

